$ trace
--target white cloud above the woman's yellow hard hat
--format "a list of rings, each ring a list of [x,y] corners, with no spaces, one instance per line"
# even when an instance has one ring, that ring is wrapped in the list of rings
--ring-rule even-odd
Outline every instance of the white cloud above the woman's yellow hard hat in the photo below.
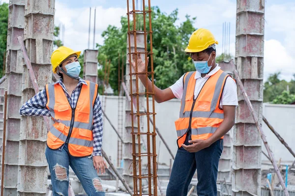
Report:
[[[99,3],[99,2],[98,2]],[[108,25],[120,26],[120,18],[126,14],[125,8],[96,6],[95,44],[103,43],[102,31]],[[88,48],[89,7],[67,8],[64,3],[56,1],[55,25],[64,24],[64,45],[74,50]],[[91,8],[90,49],[93,43],[94,7]]]

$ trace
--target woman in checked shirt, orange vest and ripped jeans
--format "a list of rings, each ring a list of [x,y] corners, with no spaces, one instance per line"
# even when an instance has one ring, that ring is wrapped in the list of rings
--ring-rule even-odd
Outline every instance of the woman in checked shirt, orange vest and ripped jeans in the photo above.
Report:
[[[60,80],[30,98],[20,109],[23,116],[49,116],[54,121],[47,134],[46,159],[53,196],[68,196],[69,166],[88,196],[104,196],[99,170],[102,158],[102,111],[98,85],[79,77],[81,51],[59,47],[51,55],[52,71]]]

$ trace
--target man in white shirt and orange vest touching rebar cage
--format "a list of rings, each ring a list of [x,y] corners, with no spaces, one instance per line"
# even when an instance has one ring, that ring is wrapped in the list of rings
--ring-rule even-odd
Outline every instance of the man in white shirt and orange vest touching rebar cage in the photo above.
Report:
[[[235,124],[237,93],[235,80],[215,62],[216,44],[209,30],[200,28],[193,32],[185,52],[196,71],[185,73],[167,89],[154,87],[158,103],[172,98],[181,100],[175,122],[178,149],[166,196],[186,196],[196,170],[198,196],[217,196],[223,136]],[[145,63],[138,57],[138,72],[145,72]],[[135,67],[134,62],[132,65]],[[151,81],[146,83],[145,75],[138,77],[151,89]]]

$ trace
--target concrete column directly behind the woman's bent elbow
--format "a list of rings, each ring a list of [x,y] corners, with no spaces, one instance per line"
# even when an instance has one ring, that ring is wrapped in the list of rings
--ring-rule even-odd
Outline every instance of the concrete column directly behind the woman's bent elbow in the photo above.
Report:
[[[55,0],[26,0],[24,41],[40,90],[52,82]],[[24,65],[22,103],[35,95]],[[22,117],[17,191],[20,196],[45,196],[47,128],[43,117]]]

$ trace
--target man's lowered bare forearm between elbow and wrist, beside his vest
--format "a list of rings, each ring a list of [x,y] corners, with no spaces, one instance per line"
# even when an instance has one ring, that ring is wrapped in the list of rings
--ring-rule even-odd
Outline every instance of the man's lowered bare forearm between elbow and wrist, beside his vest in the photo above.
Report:
[[[235,124],[235,119],[224,119],[224,121],[220,124],[217,130],[212,134],[211,137],[207,139],[209,146],[219,140],[222,136],[224,136],[227,132],[231,130],[231,128]]]

